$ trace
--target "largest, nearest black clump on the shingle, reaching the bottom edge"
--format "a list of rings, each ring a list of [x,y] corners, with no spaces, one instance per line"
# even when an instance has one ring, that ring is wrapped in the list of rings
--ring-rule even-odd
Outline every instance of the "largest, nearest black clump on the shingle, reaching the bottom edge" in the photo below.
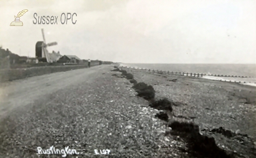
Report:
[[[197,158],[234,158],[233,153],[227,153],[224,149],[219,148],[213,137],[201,135],[199,126],[188,122],[174,121],[169,124],[172,128],[172,135],[179,135],[187,143],[187,151]]]

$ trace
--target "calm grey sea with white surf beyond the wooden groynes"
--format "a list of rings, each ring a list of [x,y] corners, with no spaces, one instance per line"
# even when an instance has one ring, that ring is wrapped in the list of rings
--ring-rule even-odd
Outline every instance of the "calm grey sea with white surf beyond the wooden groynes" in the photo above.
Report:
[[[209,80],[231,80],[241,82],[250,86],[256,86],[256,64],[166,64],[166,63],[122,63],[122,66],[154,69],[169,72],[206,74],[203,78]],[[213,76],[212,76],[213,75]],[[214,76],[216,75],[216,76]],[[223,75],[237,76],[218,77]],[[244,76],[247,78],[238,78]]]

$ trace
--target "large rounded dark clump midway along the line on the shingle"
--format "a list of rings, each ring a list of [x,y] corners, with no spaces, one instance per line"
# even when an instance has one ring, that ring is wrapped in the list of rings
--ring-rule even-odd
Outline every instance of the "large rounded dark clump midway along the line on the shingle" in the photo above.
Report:
[[[143,97],[145,100],[154,99],[155,90],[153,86],[147,85],[144,82],[136,83],[132,88],[138,93],[137,96]]]

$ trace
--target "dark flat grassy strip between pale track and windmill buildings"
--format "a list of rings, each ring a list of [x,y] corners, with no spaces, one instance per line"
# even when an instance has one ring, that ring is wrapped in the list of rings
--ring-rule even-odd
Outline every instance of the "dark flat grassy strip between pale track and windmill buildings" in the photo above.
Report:
[[[0,83],[28,78],[32,76],[50,74],[54,72],[65,72],[73,69],[83,69],[83,68],[87,68],[87,65],[41,66],[41,67],[30,67],[30,68],[23,68],[23,69],[1,69]]]

